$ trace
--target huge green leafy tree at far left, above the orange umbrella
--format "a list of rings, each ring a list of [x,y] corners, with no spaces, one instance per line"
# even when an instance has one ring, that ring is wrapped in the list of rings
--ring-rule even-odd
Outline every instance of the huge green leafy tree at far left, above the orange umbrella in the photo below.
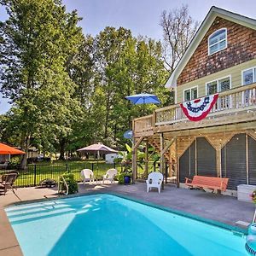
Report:
[[[0,83],[14,107],[26,166],[32,140],[44,143],[67,137],[79,102],[67,73],[68,57],[77,51],[81,28],[77,13],[66,13],[61,0],[0,0],[9,20],[0,23]],[[18,121],[19,120],[19,121]]]

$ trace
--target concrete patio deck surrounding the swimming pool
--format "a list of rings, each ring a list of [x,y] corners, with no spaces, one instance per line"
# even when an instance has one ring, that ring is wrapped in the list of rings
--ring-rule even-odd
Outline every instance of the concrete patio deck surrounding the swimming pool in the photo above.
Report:
[[[116,183],[94,183],[84,186],[79,183],[79,195],[91,192],[125,195],[139,201],[146,201],[160,207],[186,212],[242,229],[246,229],[246,223],[252,221],[255,209],[253,203],[237,201],[233,196],[206,193],[201,190],[177,189],[172,185],[166,185],[165,189],[158,194],[157,190],[147,193],[146,183],[127,186]],[[56,188],[20,188],[16,190],[16,194],[24,202],[58,197]],[[22,255],[15,233],[4,211],[4,207],[17,202],[19,199],[11,191],[8,191],[6,195],[0,195],[0,256]]]

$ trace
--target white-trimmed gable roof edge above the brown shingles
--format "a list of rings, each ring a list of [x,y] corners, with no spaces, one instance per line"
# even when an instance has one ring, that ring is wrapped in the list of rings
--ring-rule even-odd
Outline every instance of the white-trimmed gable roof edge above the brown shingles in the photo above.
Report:
[[[220,9],[218,7],[212,6],[212,8],[209,10],[206,18],[202,21],[201,26],[195,33],[194,38],[192,38],[188,48],[186,49],[185,53],[183,54],[183,57],[177,63],[177,67],[174,69],[172,75],[167,80],[166,88],[175,88],[177,86],[178,76],[180,75],[180,73],[182,73],[183,68],[186,66],[189,59],[194,54],[195,49],[201,43],[202,38],[204,38],[208,29],[210,28],[210,26],[212,26],[212,22],[213,22],[213,20],[215,20],[216,17],[220,17],[225,20],[233,21],[237,24],[240,24],[241,26],[247,26],[247,27],[256,29],[256,20],[254,20],[252,18],[248,18],[243,15],[238,15],[238,14],[232,13],[225,9]]]

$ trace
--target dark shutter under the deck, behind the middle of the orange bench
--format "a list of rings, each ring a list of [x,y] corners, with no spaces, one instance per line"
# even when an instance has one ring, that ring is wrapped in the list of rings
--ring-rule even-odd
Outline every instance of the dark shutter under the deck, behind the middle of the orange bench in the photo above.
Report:
[[[217,177],[216,150],[205,137],[196,138],[197,174]]]

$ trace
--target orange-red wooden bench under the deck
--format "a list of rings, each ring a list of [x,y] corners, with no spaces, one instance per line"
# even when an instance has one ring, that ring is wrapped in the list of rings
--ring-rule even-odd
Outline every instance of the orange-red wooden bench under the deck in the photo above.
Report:
[[[217,189],[226,191],[229,178],[227,177],[208,177],[195,175],[193,179],[186,177],[185,184],[189,188],[195,189],[212,189],[212,192]]]

